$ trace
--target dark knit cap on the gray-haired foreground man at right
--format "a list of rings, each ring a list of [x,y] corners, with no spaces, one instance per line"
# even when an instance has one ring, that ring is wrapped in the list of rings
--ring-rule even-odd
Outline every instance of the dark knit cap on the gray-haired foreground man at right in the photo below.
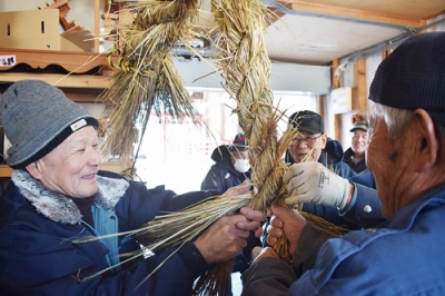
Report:
[[[445,32],[411,37],[377,68],[372,101],[415,110],[422,108],[445,126]]]

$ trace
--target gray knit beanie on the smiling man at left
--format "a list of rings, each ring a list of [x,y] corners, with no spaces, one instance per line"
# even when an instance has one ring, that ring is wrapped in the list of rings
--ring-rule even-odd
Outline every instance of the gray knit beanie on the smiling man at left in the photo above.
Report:
[[[40,80],[11,85],[1,97],[0,112],[11,142],[7,162],[12,168],[39,160],[82,127],[98,128],[91,114]]]

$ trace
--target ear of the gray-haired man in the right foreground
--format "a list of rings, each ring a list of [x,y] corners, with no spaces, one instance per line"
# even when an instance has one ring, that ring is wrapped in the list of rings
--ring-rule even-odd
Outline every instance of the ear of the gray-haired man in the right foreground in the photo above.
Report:
[[[413,165],[416,171],[422,172],[435,165],[439,152],[439,139],[433,119],[424,109],[415,110],[414,120],[417,137],[413,142],[416,149]]]

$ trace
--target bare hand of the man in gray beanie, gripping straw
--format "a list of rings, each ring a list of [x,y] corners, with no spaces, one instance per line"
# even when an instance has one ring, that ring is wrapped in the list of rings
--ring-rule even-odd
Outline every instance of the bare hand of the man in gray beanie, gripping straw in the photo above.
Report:
[[[219,218],[195,245],[208,264],[227,262],[243,253],[250,231],[258,237],[261,235],[260,223],[265,219],[264,213],[244,207],[239,215]]]

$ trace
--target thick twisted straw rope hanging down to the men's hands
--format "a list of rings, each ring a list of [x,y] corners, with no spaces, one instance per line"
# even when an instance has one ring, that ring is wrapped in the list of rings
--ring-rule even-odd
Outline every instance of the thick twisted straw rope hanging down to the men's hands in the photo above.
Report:
[[[283,155],[296,130],[288,129],[277,139],[279,115],[269,88],[270,60],[264,42],[266,7],[259,0],[212,0],[211,11],[219,26],[217,40],[226,89],[237,100],[239,126],[249,140],[253,182],[258,193],[250,206],[266,209],[283,194]]]

